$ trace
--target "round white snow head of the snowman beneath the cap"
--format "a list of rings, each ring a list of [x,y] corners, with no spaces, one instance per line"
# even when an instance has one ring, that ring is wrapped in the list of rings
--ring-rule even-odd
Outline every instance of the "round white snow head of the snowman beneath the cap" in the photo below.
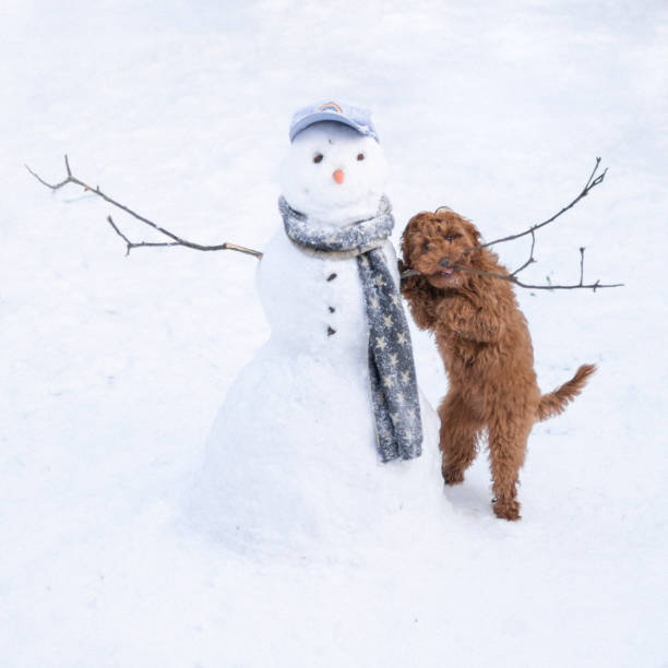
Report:
[[[313,225],[347,225],[375,215],[385,172],[375,139],[343,122],[320,121],[294,138],[281,186],[287,203]]]

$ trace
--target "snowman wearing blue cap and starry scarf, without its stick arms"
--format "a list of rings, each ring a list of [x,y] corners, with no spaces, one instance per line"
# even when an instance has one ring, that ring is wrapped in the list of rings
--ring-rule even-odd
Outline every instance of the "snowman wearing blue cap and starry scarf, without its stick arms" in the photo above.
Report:
[[[228,391],[196,482],[201,523],[242,551],[368,534],[441,491],[370,116],[309,107],[289,135],[257,275],[271,336]]]

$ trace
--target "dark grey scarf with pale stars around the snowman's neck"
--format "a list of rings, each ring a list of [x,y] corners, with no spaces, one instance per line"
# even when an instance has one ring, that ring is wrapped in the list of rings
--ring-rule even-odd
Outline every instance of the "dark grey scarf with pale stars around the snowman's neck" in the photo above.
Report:
[[[422,425],[408,323],[382,247],[392,232],[390,201],[383,198],[372,218],[337,227],[309,223],[278,201],[288,238],[323,259],[357,258],[369,327],[369,377],[375,416],[377,450],[382,462],[421,454]]]

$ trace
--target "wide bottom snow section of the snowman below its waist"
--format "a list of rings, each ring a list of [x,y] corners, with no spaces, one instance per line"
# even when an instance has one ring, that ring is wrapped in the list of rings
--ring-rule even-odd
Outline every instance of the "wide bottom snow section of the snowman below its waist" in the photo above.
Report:
[[[313,554],[337,551],[349,538],[382,541],[399,524],[422,523],[448,505],[439,422],[428,402],[421,397],[422,455],[382,464],[373,446],[370,397],[361,391],[365,379],[337,397],[341,422],[333,433],[319,390],[341,389],[342,369],[319,363],[319,386],[300,390],[293,381],[310,365],[307,355],[288,360],[267,345],[232,384],[213,425],[190,514],[235,552]],[[350,373],[363,373],[363,366],[350,367]],[[283,394],[272,390],[278,379]],[[249,396],[252,406],[244,401]]]

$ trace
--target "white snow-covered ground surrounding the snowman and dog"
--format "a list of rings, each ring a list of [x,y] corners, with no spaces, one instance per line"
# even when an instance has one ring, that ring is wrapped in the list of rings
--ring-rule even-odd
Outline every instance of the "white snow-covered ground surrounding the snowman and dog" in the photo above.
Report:
[[[5,0],[0,665],[668,666],[667,65],[658,0]],[[126,258],[108,206],[23,164],[56,181],[68,153],[190,239],[261,249],[289,117],[337,96],[373,109],[395,241],[442,204],[487,238],[521,229],[601,156],[605,183],[540,234],[526,276],[576,279],[585,246],[588,278],[627,285],[520,295],[544,390],[600,367],[535,428],[522,522],[493,517],[481,456],[442,532],[241,557],[182,499],[269,334],[255,260]],[[415,338],[437,403],[440,360]]]

